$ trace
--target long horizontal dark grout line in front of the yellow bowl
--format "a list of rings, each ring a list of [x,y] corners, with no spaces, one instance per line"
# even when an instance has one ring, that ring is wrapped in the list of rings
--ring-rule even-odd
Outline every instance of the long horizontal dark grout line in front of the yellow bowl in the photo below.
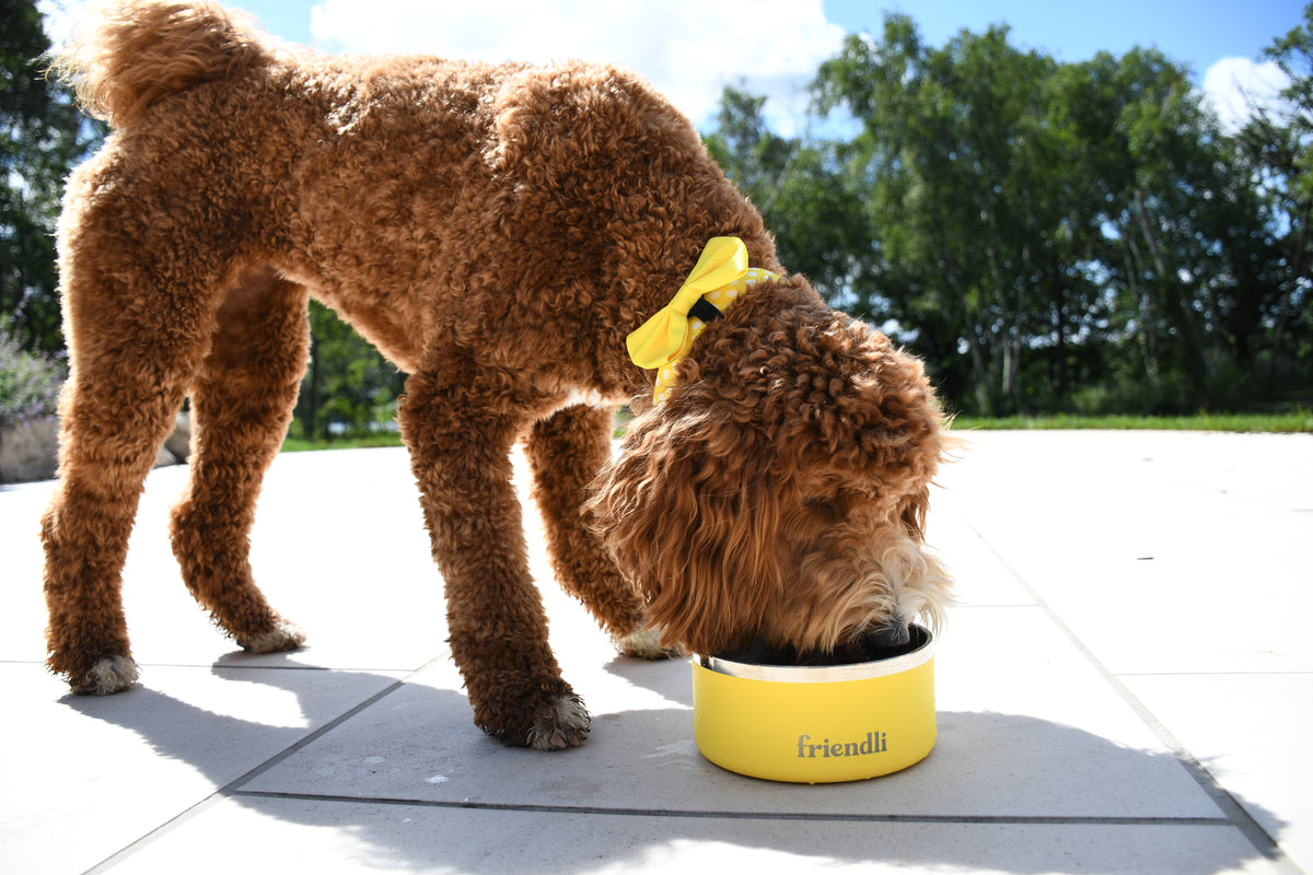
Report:
[[[242,790],[234,796],[244,799],[319,802],[337,804],[397,805],[411,808],[444,808],[496,811],[533,815],[604,815],[614,817],[684,817],[712,820],[789,820],[861,824],[989,824],[1020,826],[1233,826],[1226,817],[1123,817],[1096,815],[851,815],[780,811],[705,811],[693,808],[608,808],[603,805],[544,805],[496,802],[454,802],[437,799],[403,799],[391,796],[340,796],[332,794]]]

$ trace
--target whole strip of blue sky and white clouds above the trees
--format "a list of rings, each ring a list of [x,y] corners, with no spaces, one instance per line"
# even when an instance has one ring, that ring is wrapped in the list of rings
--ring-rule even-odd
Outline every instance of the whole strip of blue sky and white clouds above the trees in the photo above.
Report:
[[[62,39],[79,0],[41,0]],[[702,130],[725,85],[767,94],[777,132],[805,132],[806,85],[844,34],[878,34],[902,12],[943,46],[995,24],[1060,62],[1154,47],[1194,73],[1225,123],[1241,93],[1283,80],[1260,52],[1302,21],[1302,0],[232,0],[273,35],[319,51],[425,52],[479,60],[583,58],[630,67]]]

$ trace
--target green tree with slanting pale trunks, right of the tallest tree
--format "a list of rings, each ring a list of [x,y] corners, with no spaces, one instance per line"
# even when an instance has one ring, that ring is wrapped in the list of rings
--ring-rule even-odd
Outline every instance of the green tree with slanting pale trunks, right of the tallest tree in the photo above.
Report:
[[[1077,136],[1091,147],[1104,230],[1100,261],[1123,295],[1142,376],[1179,371],[1194,403],[1208,405],[1207,328],[1197,306],[1215,275],[1216,237],[1205,232],[1217,195],[1216,122],[1179,66],[1154,50],[1102,52],[1062,79]]]

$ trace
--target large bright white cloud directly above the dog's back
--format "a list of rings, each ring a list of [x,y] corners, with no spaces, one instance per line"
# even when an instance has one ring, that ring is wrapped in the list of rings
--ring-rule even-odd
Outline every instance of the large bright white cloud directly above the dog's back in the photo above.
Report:
[[[818,66],[843,41],[821,0],[323,0],[310,14],[315,45],[330,51],[629,67],[700,127],[722,88],[742,85],[771,97],[768,119],[785,134],[806,109]]]

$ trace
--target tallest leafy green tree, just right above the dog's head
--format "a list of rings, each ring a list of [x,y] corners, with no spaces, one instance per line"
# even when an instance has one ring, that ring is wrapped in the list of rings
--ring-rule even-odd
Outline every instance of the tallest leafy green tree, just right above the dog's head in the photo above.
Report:
[[[1036,100],[1054,63],[1007,35],[964,31],[931,49],[911,18],[889,14],[878,42],[850,37],[817,79],[821,110],[844,106],[863,125],[853,155],[888,315],[919,337],[951,332],[930,345],[966,353],[964,382],[987,412],[1024,404],[1027,342],[1061,279],[1046,257],[1062,215],[1056,150]]]

